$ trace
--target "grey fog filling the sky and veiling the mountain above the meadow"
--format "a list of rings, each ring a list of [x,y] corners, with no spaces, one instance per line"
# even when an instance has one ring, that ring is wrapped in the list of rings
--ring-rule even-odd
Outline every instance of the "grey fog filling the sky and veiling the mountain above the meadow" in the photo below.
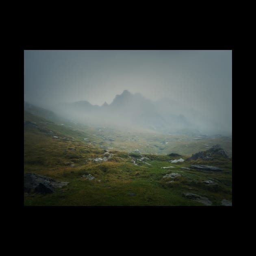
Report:
[[[93,124],[232,132],[232,51],[25,50],[24,100]],[[98,106],[63,104],[78,101]]]

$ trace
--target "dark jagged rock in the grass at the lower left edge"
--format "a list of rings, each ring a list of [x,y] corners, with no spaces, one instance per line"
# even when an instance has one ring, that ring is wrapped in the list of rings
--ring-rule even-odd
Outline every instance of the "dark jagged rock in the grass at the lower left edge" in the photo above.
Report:
[[[63,182],[37,174],[24,174],[24,192],[53,193],[54,189],[66,186],[69,182]]]

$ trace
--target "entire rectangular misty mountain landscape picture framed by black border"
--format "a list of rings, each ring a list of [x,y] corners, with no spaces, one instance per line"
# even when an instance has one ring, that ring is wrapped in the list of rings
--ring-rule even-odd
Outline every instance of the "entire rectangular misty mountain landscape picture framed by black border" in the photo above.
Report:
[[[232,206],[232,50],[24,50],[24,206]]]

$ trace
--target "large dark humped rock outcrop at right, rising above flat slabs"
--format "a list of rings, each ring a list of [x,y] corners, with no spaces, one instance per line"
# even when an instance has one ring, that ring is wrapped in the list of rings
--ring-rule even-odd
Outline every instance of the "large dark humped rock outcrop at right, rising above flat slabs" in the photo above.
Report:
[[[191,156],[191,160],[203,159],[203,160],[213,160],[215,157],[223,156],[228,158],[228,153],[223,150],[221,145],[217,144],[212,146],[206,151],[200,151]]]

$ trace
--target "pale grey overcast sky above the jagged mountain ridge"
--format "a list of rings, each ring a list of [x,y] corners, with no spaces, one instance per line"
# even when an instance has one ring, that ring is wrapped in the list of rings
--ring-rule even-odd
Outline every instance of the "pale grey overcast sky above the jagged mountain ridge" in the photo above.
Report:
[[[231,50],[25,50],[24,100],[110,104],[127,89],[232,120]]]

